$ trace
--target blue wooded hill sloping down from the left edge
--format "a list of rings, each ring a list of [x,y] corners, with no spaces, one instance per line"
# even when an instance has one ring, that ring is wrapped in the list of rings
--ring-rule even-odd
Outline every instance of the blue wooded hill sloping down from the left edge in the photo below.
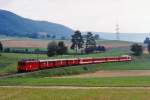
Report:
[[[66,26],[47,21],[35,21],[6,10],[0,10],[0,35],[61,38],[69,37],[71,34],[73,30]]]

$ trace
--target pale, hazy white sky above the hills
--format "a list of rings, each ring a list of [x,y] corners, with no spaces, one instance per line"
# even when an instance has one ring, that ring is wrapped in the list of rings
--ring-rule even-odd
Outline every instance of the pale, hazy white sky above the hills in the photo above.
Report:
[[[74,30],[150,33],[150,0],[0,0],[0,9]]]

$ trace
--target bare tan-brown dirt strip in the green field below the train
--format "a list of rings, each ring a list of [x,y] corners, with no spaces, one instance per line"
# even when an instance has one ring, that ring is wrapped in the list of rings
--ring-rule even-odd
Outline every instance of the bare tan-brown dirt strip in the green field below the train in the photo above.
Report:
[[[94,73],[86,73],[86,74],[72,75],[72,76],[62,76],[62,78],[125,77],[125,76],[150,76],[150,70],[97,71]]]

